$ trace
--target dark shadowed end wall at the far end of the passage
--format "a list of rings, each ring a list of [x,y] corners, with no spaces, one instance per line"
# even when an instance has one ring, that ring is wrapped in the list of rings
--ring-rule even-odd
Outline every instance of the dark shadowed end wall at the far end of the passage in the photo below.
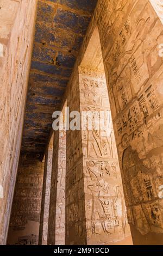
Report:
[[[8,245],[38,245],[44,161],[20,157]]]

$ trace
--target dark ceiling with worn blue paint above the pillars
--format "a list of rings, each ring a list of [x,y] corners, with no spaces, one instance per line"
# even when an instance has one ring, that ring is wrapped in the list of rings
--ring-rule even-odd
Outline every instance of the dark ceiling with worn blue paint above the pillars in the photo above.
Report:
[[[22,153],[42,157],[97,0],[38,1]]]

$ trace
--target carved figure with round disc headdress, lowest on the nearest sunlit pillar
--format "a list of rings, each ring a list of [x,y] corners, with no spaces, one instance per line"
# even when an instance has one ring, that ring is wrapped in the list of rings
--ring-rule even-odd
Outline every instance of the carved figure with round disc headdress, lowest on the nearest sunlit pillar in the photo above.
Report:
[[[93,172],[95,163],[87,162],[87,169],[90,174],[91,184],[87,188],[92,193],[92,233],[108,234],[116,233],[115,228],[125,227],[123,223],[124,205],[119,188],[111,185]],[[125,220],[126,221],[126,220]],[[101,225],[101,228],[99,228]]]

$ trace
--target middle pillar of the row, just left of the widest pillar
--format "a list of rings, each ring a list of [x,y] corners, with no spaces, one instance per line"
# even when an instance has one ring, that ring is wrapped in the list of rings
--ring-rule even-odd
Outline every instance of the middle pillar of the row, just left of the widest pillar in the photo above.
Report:
[[[48,245],[65,244],[66,132],[54,132]]]

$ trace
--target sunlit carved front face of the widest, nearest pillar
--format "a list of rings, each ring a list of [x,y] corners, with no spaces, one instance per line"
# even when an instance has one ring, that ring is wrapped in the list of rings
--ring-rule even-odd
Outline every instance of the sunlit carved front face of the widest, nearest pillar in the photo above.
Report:
[[[79,68],[81,112],[92,113],[82,131],[87,243],[115,243],[130,235],[105,76]],[[96,127],[105,111],[109,132]],[[109,115],[109,117],[108,117]]]

